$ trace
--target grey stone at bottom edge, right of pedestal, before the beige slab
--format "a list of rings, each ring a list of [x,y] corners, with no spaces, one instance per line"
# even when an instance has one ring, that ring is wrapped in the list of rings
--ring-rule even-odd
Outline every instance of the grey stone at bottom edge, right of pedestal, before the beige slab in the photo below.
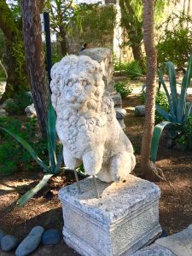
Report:
[[[125,256],[125,255],[122,255]],[[128,255],[127,255],[128,256]],[[137,253],[133,253],[130,256],[176,256],[170,250],[165,247],[161,247],[159,245],[153,244],[149,247],[144,247],[143,249],[137,251]]]

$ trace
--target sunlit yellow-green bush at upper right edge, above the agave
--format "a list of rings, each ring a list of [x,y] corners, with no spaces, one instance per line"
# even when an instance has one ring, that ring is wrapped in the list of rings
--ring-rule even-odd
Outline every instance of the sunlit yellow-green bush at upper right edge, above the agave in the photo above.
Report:
[[[168,17],[165,25],[157,44],[158,63],[162,65],[172,60],[178,69],[182,69],[192,49],[192,19],[183,13],[173,14]]]

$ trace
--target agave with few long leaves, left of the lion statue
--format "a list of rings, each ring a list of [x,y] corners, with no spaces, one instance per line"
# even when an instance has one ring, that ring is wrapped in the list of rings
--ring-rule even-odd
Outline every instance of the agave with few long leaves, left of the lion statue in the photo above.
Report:
[[[19,207],[23,207],[27,201],[29,201],[33,195],[38,193],[40,189],[44,187],[46,183],[48,183],[49,178],[58,174],[61,171],[61,163],[62,163],[62,145],[58,154],[58,158],[56,160],[55,156],[55,148],[56,148],[56,131],[55,131],[55,110],[52,107],[51,101],[49,101],[49,109],[48,109],[48,122],[47,122],[47,135],[48,135],[48,149],[49,149],[49,166],[47,166],[43,160],[40,160],[38,155],[35,153],[34,149],[26,143],[24,139],[17,136],[14,132],[9,131],[3,127],[0,127],[1,130],[6,131],[10,136],[14,137],[17,142],[19,142],[28,152],[32,155],[32,158],[36,160],[39,166],[44,169],[44,177],[35,186],[33,189],[30,189],[26,192],[25,195],[22,195],[18,200]]]

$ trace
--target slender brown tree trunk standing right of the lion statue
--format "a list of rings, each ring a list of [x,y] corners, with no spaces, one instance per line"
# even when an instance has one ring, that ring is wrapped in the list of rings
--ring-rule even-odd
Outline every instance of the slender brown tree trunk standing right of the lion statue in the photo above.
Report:
[[[156,93],[157,56],[154,46],[154,0],[143,0],[143,39],[147,55],[145,124],[142,140],[141,167],[144,176],[154,180],[158,175],[154,164],[150,161],[151,141],[154,131],[154,106]],[[159,175],[158,175],[159,176]]]

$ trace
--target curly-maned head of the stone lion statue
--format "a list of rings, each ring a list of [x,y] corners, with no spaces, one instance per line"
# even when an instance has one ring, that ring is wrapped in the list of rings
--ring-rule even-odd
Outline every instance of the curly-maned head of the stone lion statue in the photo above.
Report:
[[[104,92],[102,67],[90,57],[68,55],[51,69],[52,102],[58,99],[73,109],[97,108]]]

